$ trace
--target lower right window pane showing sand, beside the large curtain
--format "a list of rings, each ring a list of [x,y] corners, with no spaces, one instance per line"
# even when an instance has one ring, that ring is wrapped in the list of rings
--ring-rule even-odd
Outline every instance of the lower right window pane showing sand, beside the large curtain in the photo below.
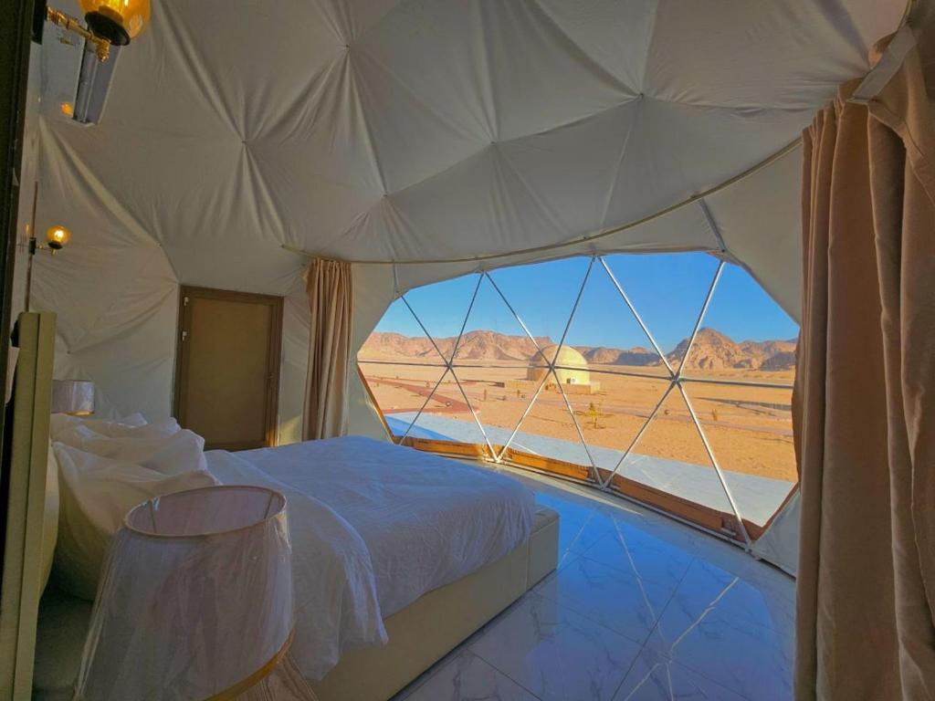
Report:
[[[798,481],[792,391],[708,382],[685,387],[741,515],[768,522]]]

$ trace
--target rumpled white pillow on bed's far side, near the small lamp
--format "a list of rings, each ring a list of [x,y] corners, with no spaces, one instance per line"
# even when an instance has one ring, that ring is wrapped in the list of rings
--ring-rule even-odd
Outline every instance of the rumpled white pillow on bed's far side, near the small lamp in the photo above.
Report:
[[[62,431],[58,441],[79,451],[142,465],[164,475],[208,469],[204,438],[187,429],[179,429],[178,423],[175,424],[175,433],[169,435],[144,431],[151,425],[114,437],[102,436],[87,426],[76,426]]]

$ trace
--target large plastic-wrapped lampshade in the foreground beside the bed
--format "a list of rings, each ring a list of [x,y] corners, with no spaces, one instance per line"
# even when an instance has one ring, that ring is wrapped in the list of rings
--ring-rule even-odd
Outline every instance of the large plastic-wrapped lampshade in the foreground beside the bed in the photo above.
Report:
[[[78,699],[233,698],[292,640],[285,497],[223,486],[132,509],[94,603]]]

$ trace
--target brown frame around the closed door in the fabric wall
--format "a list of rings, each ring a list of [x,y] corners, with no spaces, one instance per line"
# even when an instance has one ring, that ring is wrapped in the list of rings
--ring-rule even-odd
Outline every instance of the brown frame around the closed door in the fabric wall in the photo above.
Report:
[[[181,416],[181,396],[186,388],[186,377],[188,372],[188,353],[185,351],[184,336],[191,322],[190,307],[187,304],[189,297],[201,297],[202,299],[216,299],[222,302],[247,302],[264,303],[273,308],[272,326],[269,330],[269,345],[267,355],[269,357],[268,382],[266,385],[266,445],[275,446],[278,438],[279,428],[279,404],[280,404],[280,370],[282,365],[282,308],[283,298],[275,294],[255,294],[235,292],[233,290],[218,290],[212,287],[196,287],[194,285],[179,286],[179,317],[176,322],[176,363],[175,378],[173,381],[172,393],[172,413],[184,424],[184,417]],[[240,451],[252,448],[252,445],[246,443],[224,443],[212,446],[211,449],[222,449],[225,451]],[[209,450],[211,450],[209,449]]]

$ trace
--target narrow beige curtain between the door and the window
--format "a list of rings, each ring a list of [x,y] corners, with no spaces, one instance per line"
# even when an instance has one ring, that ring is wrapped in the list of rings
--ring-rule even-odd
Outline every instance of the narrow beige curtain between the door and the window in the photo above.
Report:
[[[351,264],[315,258],[306,272],[311,324],[303,440],[343,436],[352,372]]]

